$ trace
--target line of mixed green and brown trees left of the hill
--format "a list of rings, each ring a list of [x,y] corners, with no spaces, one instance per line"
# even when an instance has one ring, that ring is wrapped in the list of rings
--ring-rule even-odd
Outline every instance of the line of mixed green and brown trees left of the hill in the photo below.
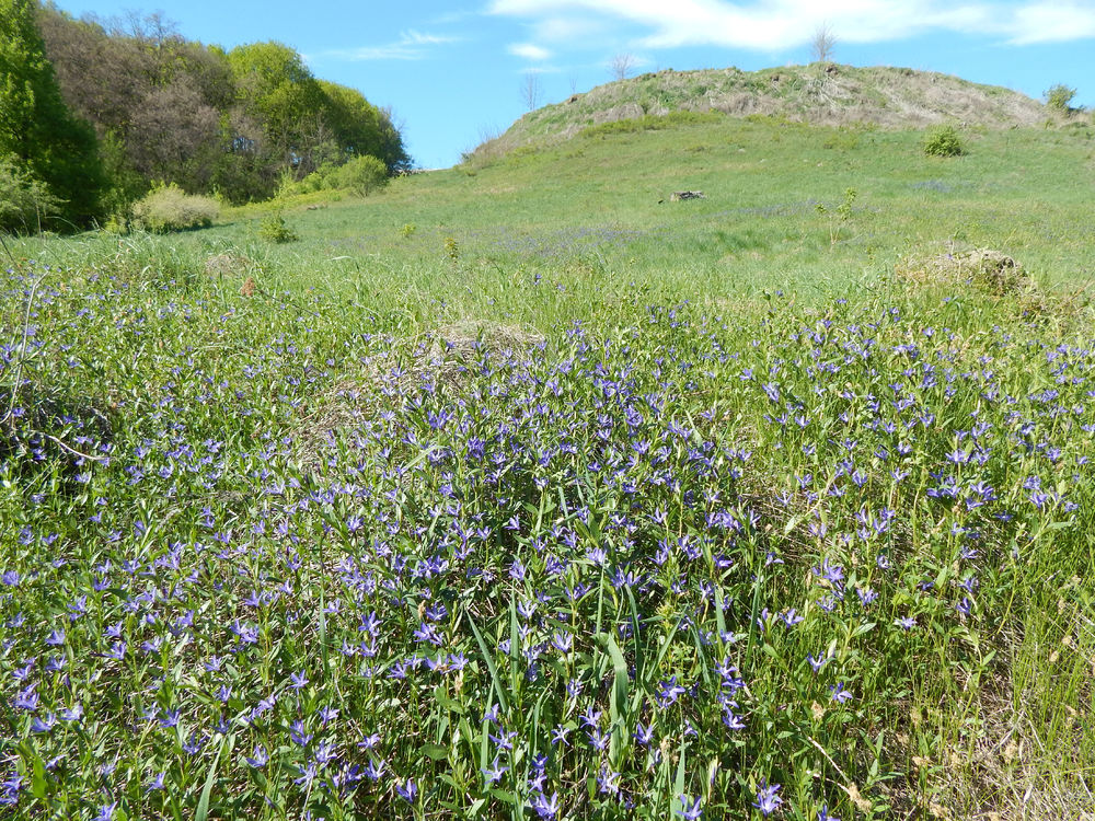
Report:
[[[0,229],[83,227],[160,183],[266,199],[366,155],[411,165],[389,111],[284,44],[224,50],[159,14],[77,20],[0,0]]]

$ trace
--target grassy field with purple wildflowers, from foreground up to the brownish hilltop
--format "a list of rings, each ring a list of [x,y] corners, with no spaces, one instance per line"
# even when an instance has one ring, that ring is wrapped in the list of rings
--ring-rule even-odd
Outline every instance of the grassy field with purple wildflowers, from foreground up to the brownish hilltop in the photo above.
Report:
[[[0,818],[1091,818],[1088,137],[721,128],[9,242]]]

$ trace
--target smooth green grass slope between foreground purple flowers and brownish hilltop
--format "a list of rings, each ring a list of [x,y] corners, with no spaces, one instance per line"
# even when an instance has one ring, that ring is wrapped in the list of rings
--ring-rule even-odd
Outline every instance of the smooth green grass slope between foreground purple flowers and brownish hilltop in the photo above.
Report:
[[[873,286],[902,261],[952,246],[1006,251],[1049,288],[1090,277],[1084,207],[1095,128],[1085,124],[964,132],[965,155],[934,158],[919,130],[694,119],[636,131],[626,130],[629,120],[593,127],[543,150],[401,177],[364,200],[298,197],[287,218],[301,241],[290,245],[258,239],[269,206],[257,205],[189,234],[83,235],[49,244],[48,253],[64,263],[115,255],[132,264],[154,254],[201,287],[210,255],[241,253],[272,287],[369,292],[378,304],[410,291],[415,305],[422,296],[482,319],[519,310],[516,293],[496,305],[487,300],[525,271],[566,278],[577,310],[632,281],[668,300],[764,289],[815,300]],[[841,216],[849,189],[854,203]],[[671,203],[676,190],[702,190],[706,199]],[[33,244],[23,253],[33,254]],[[530,307],[519,319],[558,317]]]

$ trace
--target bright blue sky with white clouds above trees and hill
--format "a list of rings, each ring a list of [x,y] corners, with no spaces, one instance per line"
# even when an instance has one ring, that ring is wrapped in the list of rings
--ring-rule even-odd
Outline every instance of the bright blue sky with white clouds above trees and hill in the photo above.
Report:
[[[751,70],[809,61],[821,24],[834,59],[906,66],[1016,89],[1054,83],[1095,105],[1095,0],[59,0],[76,15],[162,12],[181,34],[227,48],[277,39],[326,80],[391,106],[423,167],[505,130],[527,109],[608,82],[616,55],[635,70]]]

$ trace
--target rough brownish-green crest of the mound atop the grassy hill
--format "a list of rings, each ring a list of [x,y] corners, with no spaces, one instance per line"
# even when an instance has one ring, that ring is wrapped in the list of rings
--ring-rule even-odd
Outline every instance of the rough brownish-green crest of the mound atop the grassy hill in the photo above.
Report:
[[[589,126],[673,112],[904,128],[946,122],[1006,128],[1037,125],[1050,116],[1045,105],[1010,89],[904,68],[666,69],[538,108],[486,144],[506,151],[531,141],[569,139]]]

